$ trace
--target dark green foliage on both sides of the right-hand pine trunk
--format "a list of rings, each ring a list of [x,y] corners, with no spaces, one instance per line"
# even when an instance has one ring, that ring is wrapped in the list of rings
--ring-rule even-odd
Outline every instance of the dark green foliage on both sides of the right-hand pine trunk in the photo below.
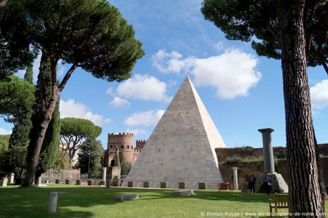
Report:
[[[201,12],[230,40],[252,41],[259,56],[281,59],[279,21],[274,1],[205,0]],[[306,1],[304,30],[308,66],[323,66],[328,75],[328,2]],[[255,40],[254,36],[257,40]]]

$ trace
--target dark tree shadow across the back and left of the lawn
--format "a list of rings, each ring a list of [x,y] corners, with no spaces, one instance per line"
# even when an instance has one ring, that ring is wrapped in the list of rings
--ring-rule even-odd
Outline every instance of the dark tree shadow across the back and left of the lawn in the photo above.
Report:
[[[176,190],[176,189],[175,189]],[[68,192],[58,195],[57,212],[48,214],[49,194],[52,191]],[[149,201],[157,199],[187,200],[200,199],[209,201],[231,201],[241,204],[268,203],[273,194],[250,194],[217,190],[194,190],[196,193],[190,197],[176,197],[172,195],[173,189],[138,189],[138,188],[111,188],[88,187],[74,185],[49,185],[34,188],[0,188],[0,217],[91,217],[101,214],[102,205],[134,204],[135,201],[114,201],[115,195],[134,193],[140,199]],[[90,212],[90,207],[92,212]]]

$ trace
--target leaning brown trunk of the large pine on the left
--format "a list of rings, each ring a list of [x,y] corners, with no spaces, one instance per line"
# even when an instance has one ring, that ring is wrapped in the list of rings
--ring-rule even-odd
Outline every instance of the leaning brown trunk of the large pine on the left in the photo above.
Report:
[[[27,169],[26,169],[26,177],[24,186],[32,186],[33,180],[35,178],[35,170],[37,166],[37,161],[40,155],[40,150],[45,139],[45,135],[48,129],[48,125],[51,121],[52,114],[55,110],[55,106],[59,97],[59,90],[57,86],[53,88],[53,98],[50,102],[48,110],[45,110],[42,121],[40,121],[39,132],[37,135],[37,139],[30,142],[28,155],[27,155]]]

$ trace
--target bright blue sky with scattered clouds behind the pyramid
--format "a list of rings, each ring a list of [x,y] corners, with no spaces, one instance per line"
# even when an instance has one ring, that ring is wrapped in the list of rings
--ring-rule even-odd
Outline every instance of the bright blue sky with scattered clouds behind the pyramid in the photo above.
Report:
[[[98,137],[132,132],[148,139],[186,74],[196,86],[227,147],[261,147],[259,128],[273,128],[274,146],[285,146],[280,60],[259,57],[250,43],[230,41],[205,20],[201,1],[110,1],[132,24],[146,55],[131,79],[107,82],[76,70],[61,94],[62,117],[90,119],[103,128]],[[34,74],[37,74],[35,61]],[[58,77],[69,66],[58,67]],[[22,77],[24,72],[18,72]],[[328,138],[328,77],[309,68],[313,120],[318,143]],[[0,121],[0,134],[12,125]]]

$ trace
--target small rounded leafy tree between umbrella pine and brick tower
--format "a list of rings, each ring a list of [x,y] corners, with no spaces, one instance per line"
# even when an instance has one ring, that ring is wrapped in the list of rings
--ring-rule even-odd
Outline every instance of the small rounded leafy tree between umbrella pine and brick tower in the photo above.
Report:
[[[99,175],[101,172],[101,157],[103,157],[103,145],[95,138],[88,138],[83,142],[83,146],[78,154],[78,167],[81,173],[88,172],[89,166],[89,151],[90,153],[90,168],[89,173]]]

